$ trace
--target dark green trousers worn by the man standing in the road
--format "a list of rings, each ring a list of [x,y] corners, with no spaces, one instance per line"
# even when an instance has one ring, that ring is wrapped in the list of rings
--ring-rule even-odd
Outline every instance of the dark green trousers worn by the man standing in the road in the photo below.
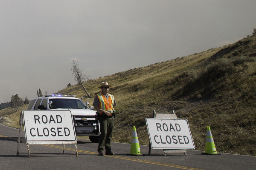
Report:
[[[102,113],[104,114],[104,113]],[[113,132],[113,117],[99,117],[99,125],[100,125],[100,136],[99,136],[99,146],[98,152],[103,151],[104,147],[106,152],[111,151],[111,139]]]

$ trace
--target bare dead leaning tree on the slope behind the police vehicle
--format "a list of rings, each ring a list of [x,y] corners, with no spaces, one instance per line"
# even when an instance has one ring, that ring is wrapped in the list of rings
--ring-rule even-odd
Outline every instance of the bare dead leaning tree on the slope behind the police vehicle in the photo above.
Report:
[[[88,98],[92,98],[90,94],[87,92],[87,90],[84,87],[83,81],[89,80],[89,75],[82,75],[82,70],[78,67],[78,61],[73,60],[71,67],[71,71],[73,72],[72,76],[75,75],[75,81],[81,86],[81,88],[84,90],[84,92],[87,94]],[[84,97],[83,97],[84,98]]]

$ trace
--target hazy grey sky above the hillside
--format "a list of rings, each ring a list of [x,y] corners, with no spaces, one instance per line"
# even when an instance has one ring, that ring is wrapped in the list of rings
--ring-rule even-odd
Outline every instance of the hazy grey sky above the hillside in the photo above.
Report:
[[[256,0],[0,0],[0,103],[227,45],[256,28]]]

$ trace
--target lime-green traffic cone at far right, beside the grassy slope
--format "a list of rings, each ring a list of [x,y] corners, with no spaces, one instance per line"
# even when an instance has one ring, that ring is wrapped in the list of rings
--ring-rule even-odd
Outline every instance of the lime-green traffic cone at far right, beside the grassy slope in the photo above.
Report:
[[[215,144],[212,139],[212,133],[210,130],[210,127],[207,126],[207,135],[206,135],[206,144],[205,144],[205,152],[202,153],[205,155],[221,155],[217,153],[217,150],[215,148]]]

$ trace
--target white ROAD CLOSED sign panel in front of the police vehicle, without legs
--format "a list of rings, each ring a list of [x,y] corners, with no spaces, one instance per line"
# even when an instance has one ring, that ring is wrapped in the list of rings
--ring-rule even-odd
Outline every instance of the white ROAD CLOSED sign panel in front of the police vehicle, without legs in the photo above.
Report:
[[[27,143],[76,144],[71,111],[24,110],[22,114]]]

